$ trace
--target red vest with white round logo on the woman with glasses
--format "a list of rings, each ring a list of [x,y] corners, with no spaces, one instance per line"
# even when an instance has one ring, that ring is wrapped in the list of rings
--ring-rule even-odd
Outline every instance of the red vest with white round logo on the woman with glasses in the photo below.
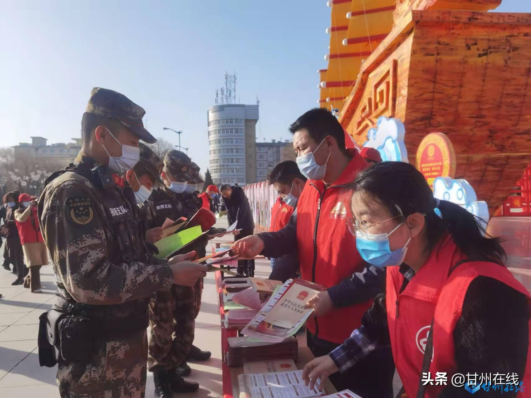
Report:
[[[387,268],[386,305],[391,349],[398,374],[410,398],[417,395],[424,348],[432,319],[433,359],[429,371],[432,378],[436,372],[446,372],[448,384],[451,384],[452,375],[457,373],[453,330],[461,317],[468,286],[477,276],[497,279],[531,298],[527,289],[506,267],[495,263],[466,262],[457,266],[448,278],[450,267],[465,258],[451,236],[443,238],[432,249],[426,264],[400,294],[398,292],[404,276],[400,274],[398,266]],[[529,331],[531,332],[531,325]],[[519,375],[525,387],[531,384],[530,371],[531,352],[528,348],[525,375]],[[444,386],[428,385],[425,397],[435,398],[443,388]]]

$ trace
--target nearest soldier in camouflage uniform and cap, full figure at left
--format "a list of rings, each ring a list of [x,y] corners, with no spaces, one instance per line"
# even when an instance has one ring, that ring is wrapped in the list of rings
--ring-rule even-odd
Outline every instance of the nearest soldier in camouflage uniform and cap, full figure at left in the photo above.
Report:
[[[57,360],[62,397],[143,397],[149,296],[205,275],[205,266],[182,261],[190,255],[147,263],[132,206],[115,183],[139,160],[139,139],[156,141],[143,115],[122,94],[93,89],[82,150],[46,180],[40,196],[40,227],[58,288],[56,304],[41,315],[39,360],[45,366]],[[42,327],[54,346],[41,344]],[[51,359],[44,357],[50,349]]]

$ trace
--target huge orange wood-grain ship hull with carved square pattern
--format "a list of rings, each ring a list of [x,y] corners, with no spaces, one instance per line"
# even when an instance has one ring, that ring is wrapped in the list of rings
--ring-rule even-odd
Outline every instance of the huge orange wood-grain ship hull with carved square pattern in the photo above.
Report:
[[[486,13],[501,0],[397,0],[394,25],[361,65],[340,113],[359,143],[380,116],[406,128],[409,162],[446,134],[491,214],[531,158],[531,14]]]

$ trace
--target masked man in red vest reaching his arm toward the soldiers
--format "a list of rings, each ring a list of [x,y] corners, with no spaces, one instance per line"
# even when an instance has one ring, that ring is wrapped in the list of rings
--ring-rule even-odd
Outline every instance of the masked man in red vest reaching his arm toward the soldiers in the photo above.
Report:
[[[260,253],[278,257],[293,247],[298,249],[302,279],[327,288],[313,300],[315,317],[307,322],[308,347],[315,356],[322,356],[361,325],[378,292],[360,290],[346,306],[339,293],[344,280],[366,268],[347,229],[350,195],[345,188],[367,163],[357,150],[345,148],[343,128],[327,109],[307,111],[289,131],[294,134],[298,168],[308,177],[297,210],[280,231],[246,237],[233,247],[246,257]],[[349,388],[364,398],[383,397],[392,394],[393,371],[392,355],[386,347],[330,380],[338,391]]]

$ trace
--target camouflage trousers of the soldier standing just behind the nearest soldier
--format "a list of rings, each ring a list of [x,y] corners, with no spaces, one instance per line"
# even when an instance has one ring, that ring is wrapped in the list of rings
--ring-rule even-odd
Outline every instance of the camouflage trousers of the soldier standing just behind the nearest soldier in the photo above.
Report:
[[[203,279],[193,287],[174,285],[158,291],[149,303],[148,370],[173,369],[186,358],[194,341],[201,309]]]

